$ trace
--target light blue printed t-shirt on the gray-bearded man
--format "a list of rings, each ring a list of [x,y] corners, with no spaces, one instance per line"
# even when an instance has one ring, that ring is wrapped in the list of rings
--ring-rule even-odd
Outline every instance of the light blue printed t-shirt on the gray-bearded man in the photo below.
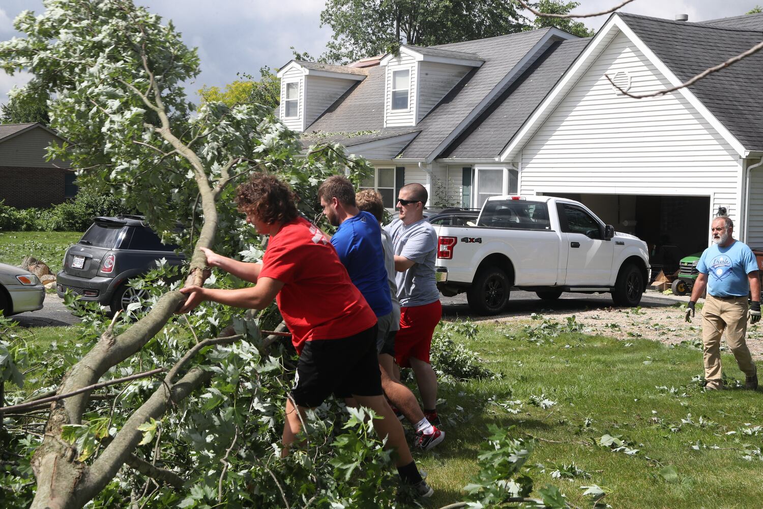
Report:
[[[735,240],[731,246],[708,247],[697,270],[707,274],[707,293],[713,297],[746,297],[750,289],[747,275],[758,270],[758,262],[747,244]]]

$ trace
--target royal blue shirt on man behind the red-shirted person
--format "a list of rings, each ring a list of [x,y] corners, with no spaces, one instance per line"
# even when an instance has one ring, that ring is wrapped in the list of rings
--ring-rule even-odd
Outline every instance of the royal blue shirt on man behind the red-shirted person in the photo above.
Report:
[[[358,287],[377,317],[392,312],[392,300],[381,246],[381,228],[376,217],[361,211],[350,217],[336,230],[331,243],[349,273],[349,279]]]

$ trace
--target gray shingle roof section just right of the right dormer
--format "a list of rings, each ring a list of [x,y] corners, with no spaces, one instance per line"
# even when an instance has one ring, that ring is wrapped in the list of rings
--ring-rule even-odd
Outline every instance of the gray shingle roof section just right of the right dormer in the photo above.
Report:
[[[415,140],[401,157],[425,159],[442,143],[494,87],[501,82],[549,29],[521,32],[463,43],[443,44],[437,48],[477,53],[485,63],[473,70],[430,111],[418,127]]]

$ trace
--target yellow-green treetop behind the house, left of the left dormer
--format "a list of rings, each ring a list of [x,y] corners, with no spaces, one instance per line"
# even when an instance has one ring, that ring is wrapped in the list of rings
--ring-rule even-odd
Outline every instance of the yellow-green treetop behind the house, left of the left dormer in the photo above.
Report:
[[[201,104],[207,102],[222,102],[233,106],[243,102],[256,102],[260,105],[275,108],[281,101],[281,79],[271,72],[268,66],[259,69],[259,81],[254,76],[239,73],[243,79],[237,79],[225,85],[221,90],[217,86],[204,86],[198,91]]]

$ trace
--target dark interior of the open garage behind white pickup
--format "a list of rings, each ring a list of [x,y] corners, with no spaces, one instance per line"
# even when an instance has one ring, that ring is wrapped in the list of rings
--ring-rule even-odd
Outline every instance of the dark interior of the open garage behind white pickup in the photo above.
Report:
[[[580,201],[605,224],[649,246],[652,278],[673,274],[684,256],[701,253],[710,234],[709,196],[544,193]]]

